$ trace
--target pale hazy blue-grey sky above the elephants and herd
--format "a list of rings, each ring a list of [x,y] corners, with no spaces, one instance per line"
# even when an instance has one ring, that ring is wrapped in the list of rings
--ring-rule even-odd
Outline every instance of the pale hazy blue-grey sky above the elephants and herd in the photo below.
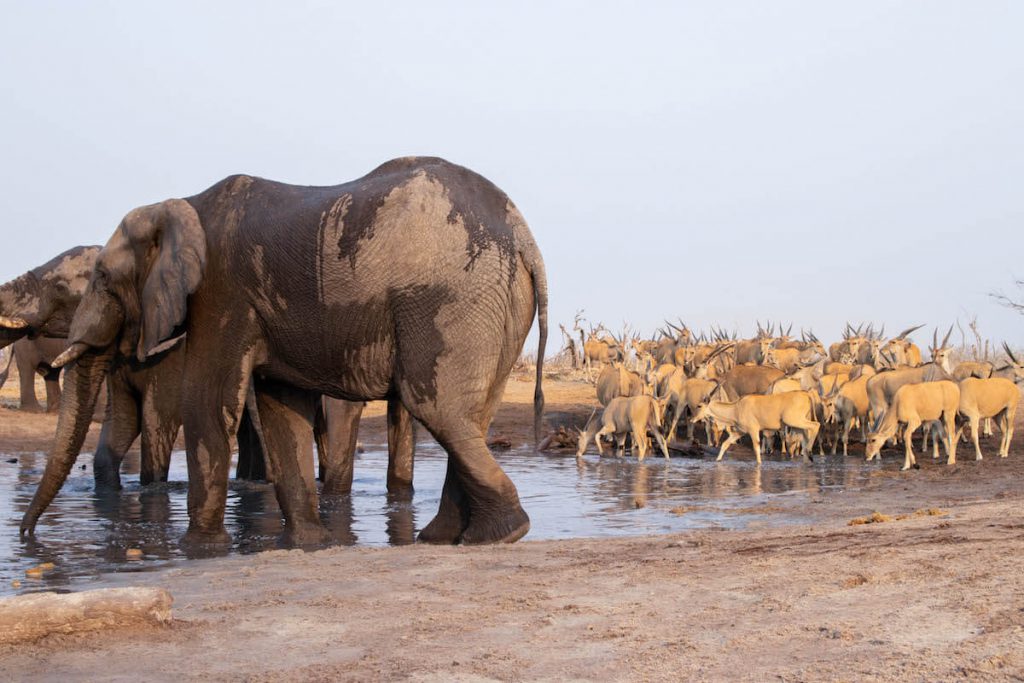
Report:
[[[554,324],[772,317],[833,340],[847,318],[977,313],[1024,342],[1024,316],[986,296],[1024,297],[1024,2],[3,1],[0,16],[0,282],[230,173],[333,184],[436,155],[519,206]]]

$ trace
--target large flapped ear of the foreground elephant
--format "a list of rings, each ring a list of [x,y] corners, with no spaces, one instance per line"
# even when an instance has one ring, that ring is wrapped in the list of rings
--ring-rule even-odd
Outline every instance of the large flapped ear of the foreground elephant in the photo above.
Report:
[[[184,323],[188,295],[199,288],[206,266],[206,232],[196,210],[184,200],[167,200],[160,208],[157,257],[142,287],[139,360],[159,352]]]

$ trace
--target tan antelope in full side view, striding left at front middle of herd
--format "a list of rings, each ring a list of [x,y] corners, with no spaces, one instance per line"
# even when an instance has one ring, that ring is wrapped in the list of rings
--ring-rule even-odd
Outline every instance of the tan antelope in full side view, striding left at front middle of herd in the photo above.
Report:
[[[804,432],[803,455],[808,460],[818,435],[818,423],[813,419],[813,404],[807,391],[788,391],[772,396],[749,395],[734,402],[712,400],[697,408],[691,422],[714,420],[724,426],[729,436],[722,443],[716,460],[743,435],[751,437],[754,456],[761,462],[761,432],[781,431],[783,427]]]

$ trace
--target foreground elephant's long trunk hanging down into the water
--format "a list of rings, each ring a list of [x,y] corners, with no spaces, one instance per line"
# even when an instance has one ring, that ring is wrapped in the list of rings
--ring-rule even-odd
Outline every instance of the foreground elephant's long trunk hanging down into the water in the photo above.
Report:
[[[99,395],[103,378],[110,371],[113,357],[113,346],[100,352],[88,351],[65,373],[63,397],[60,401],[60,415],[57,417],[53,447],[46,459],[43,479],[22,518],[23,537],[35,533],[39,517],[68,479],[71,468],[74,467],[82,450],[85,435],[89,431],[96,397]]]

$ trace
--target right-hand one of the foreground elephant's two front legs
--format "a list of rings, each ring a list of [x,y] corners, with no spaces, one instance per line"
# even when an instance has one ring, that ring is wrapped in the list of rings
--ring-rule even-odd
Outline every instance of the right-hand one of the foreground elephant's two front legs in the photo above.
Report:
[[[267,456],[274,472],[278,504],[285,515],[288,545],[328,541],[321,524],[313,479],[313,418],[319,395],[287,384],[256,379]]]

